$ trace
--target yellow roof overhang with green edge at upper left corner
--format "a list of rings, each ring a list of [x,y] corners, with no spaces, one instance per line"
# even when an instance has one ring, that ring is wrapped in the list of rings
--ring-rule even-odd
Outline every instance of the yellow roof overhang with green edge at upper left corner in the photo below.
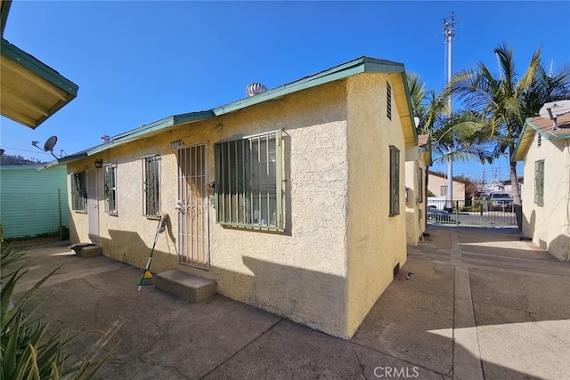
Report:
[[[2,116],[36,129],[77,96],[76,84],[4,38],[1,56]]]

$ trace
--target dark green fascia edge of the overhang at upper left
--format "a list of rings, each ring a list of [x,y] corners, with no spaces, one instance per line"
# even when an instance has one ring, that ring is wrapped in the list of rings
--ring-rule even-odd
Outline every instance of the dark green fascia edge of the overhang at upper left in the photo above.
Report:
[[[77,96],[77,91],[79,90],[78,85],[71,82],[68,78],[63,77],[60,73],[47,66],[44,62],[37,60],[33,55],[24,52],[15,44],[11,44],[4,38],[2,38],[2,55],[12,61],[20,63],[21,66],[37,74],[37,76],[43,77],[52,85],[55,85],[66,93],[69,93],[72,98]],[[71,99],[68,101],[70,100]]]

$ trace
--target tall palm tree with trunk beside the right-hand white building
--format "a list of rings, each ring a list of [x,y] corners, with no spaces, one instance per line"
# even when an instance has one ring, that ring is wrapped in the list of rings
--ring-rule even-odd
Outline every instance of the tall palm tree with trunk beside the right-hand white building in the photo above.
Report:
[[[533,53],[528,67],[517,75],[513,50],[507,44],[494,49],[500,64],[499,76],[493,75],[483,62],[476,69],[462,70],[452,77],[451,90],[467,109],[485,118],[489,138],[494,141],[494,156],[509,153],[510,180],[517,183],[517,163],[512,160],[517,139],[526,117],[537,116],[544,102],[556,101],[567,95],[570,75],[562,69],[555,77],[546,75],[539,48]],[[518,228],[522,224],[520,190],[513,187],[513,203]]]

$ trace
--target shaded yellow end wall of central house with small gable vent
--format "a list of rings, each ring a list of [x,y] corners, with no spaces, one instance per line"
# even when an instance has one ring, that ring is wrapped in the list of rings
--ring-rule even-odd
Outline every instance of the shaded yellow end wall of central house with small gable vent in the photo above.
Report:
[[[348,98],[348,294],[347,331],[352,336],[406,261],[405,146],[398,109],[386,112],[384,74],[347,80]],[[392,85],[395,88],[395,85]],[[393,90],[394,91],[394,90]],[[389,216],[390,145],[400,150],[400,214]]]

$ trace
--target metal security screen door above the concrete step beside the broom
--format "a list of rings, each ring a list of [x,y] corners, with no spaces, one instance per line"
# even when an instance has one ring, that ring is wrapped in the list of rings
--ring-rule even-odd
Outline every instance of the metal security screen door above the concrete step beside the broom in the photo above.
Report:
[[[207,145],[178,150],[178,262],[209,268]]]

